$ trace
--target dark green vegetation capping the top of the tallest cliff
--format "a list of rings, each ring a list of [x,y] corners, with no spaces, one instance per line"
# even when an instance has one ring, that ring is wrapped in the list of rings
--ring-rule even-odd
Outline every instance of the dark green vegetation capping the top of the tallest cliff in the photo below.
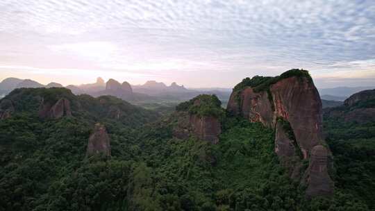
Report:
[[[307,78],[308,82],[312,82],[310,74],[304,69],[290,69],[285,71],[280,76],[265,77],[265,76],[253,76],[253,78],[244,78],[242,82],[235,85],[233,92],[238,92],[244,89],[244,87],[253,87],[254,92],[262,92],[269,90],[269,87],[284,78],[290,77]]]

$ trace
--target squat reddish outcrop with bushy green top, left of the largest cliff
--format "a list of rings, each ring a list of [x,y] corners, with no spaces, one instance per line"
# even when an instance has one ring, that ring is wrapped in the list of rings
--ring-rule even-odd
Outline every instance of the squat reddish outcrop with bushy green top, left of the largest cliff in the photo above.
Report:
[[[174,137],[185,139],[193,135],[199,140],[217,144],[222,133],[220,118],[224,115],[220,105],[216,96],[207,94],[178,105]]]

